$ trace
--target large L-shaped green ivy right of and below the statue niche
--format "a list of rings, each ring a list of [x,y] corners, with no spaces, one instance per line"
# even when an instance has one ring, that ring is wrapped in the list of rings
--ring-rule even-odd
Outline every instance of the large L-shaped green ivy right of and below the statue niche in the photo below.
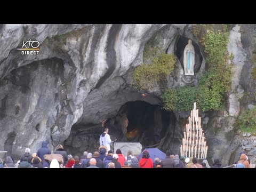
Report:
[[[166,90],[161,98],[166,110],[191,110],[197,102],[200,110],[219,110],[223,96],[231,84],[231,67],[228,60],[234,55],[228,55],[227,43],[229,33],[227,26],[221,25],[222,30],[213,31],[212,25],[197,25],[193,33],[204,46],[206,63],[209,69],[199,79],[197,87],[182,87]]]

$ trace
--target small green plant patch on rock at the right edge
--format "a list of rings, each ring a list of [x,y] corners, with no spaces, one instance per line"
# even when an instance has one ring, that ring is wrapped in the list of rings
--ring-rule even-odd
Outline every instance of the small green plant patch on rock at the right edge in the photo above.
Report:
[[[236,120],[240,130],[244,133],[255,133],[256,132],[256,107],[252,110],[244,110],[241,114],[241,118]]]

